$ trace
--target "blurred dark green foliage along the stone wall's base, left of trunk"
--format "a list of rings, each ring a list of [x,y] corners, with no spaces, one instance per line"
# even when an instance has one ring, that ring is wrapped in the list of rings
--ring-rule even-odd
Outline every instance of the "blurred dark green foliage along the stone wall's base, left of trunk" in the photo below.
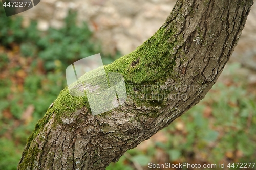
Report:
[[[39,56],[47,71],[56,68],[63,71],[73,62],[101,52],[100,43],[93,40],[87,24],[76,24],[74,11],[69,11],[64,27],[50,28],[44,33],[37,30],[35,21],[29,27],[23,28],[22,18],[6,17],[3,8],[0,9],[0,16],[0,25],[4,26],[0,29],[0,44],[7,48],[12,48],[13,44],[20,45],[23,56]],[[118,56],[103,54],[103,63],[109,64]]]

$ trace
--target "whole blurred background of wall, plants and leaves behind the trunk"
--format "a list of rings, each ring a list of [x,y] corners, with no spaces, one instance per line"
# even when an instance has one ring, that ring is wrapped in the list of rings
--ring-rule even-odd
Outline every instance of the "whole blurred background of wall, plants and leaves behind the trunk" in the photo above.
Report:
[[[42,0],[11,17],[1,4],[0,169],[16,169],[36,122],[67,85],[68,65],[97,53],[108,64],[135,50],[164,23],[175,2]],[[205,99],[107,169],[150,169],[149,162],[256,163],[255,101],[253,5],[230,61]]]

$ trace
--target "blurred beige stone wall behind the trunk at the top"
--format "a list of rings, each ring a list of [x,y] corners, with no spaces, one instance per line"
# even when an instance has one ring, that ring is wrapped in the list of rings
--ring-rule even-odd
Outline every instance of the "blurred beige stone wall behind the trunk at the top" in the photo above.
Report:
[[[41,2],[20,15],[24,25],[38,20],[38,29],[60,28],[69,9],[78,12],[78,22],[86,21],[96,38],[102,41],[103,51],[127,54],[152,36],[164,23],[175,5],[174,0],[75,0]],[[233,55],[256,56],[256,5],[252,6],[246,27]]]

